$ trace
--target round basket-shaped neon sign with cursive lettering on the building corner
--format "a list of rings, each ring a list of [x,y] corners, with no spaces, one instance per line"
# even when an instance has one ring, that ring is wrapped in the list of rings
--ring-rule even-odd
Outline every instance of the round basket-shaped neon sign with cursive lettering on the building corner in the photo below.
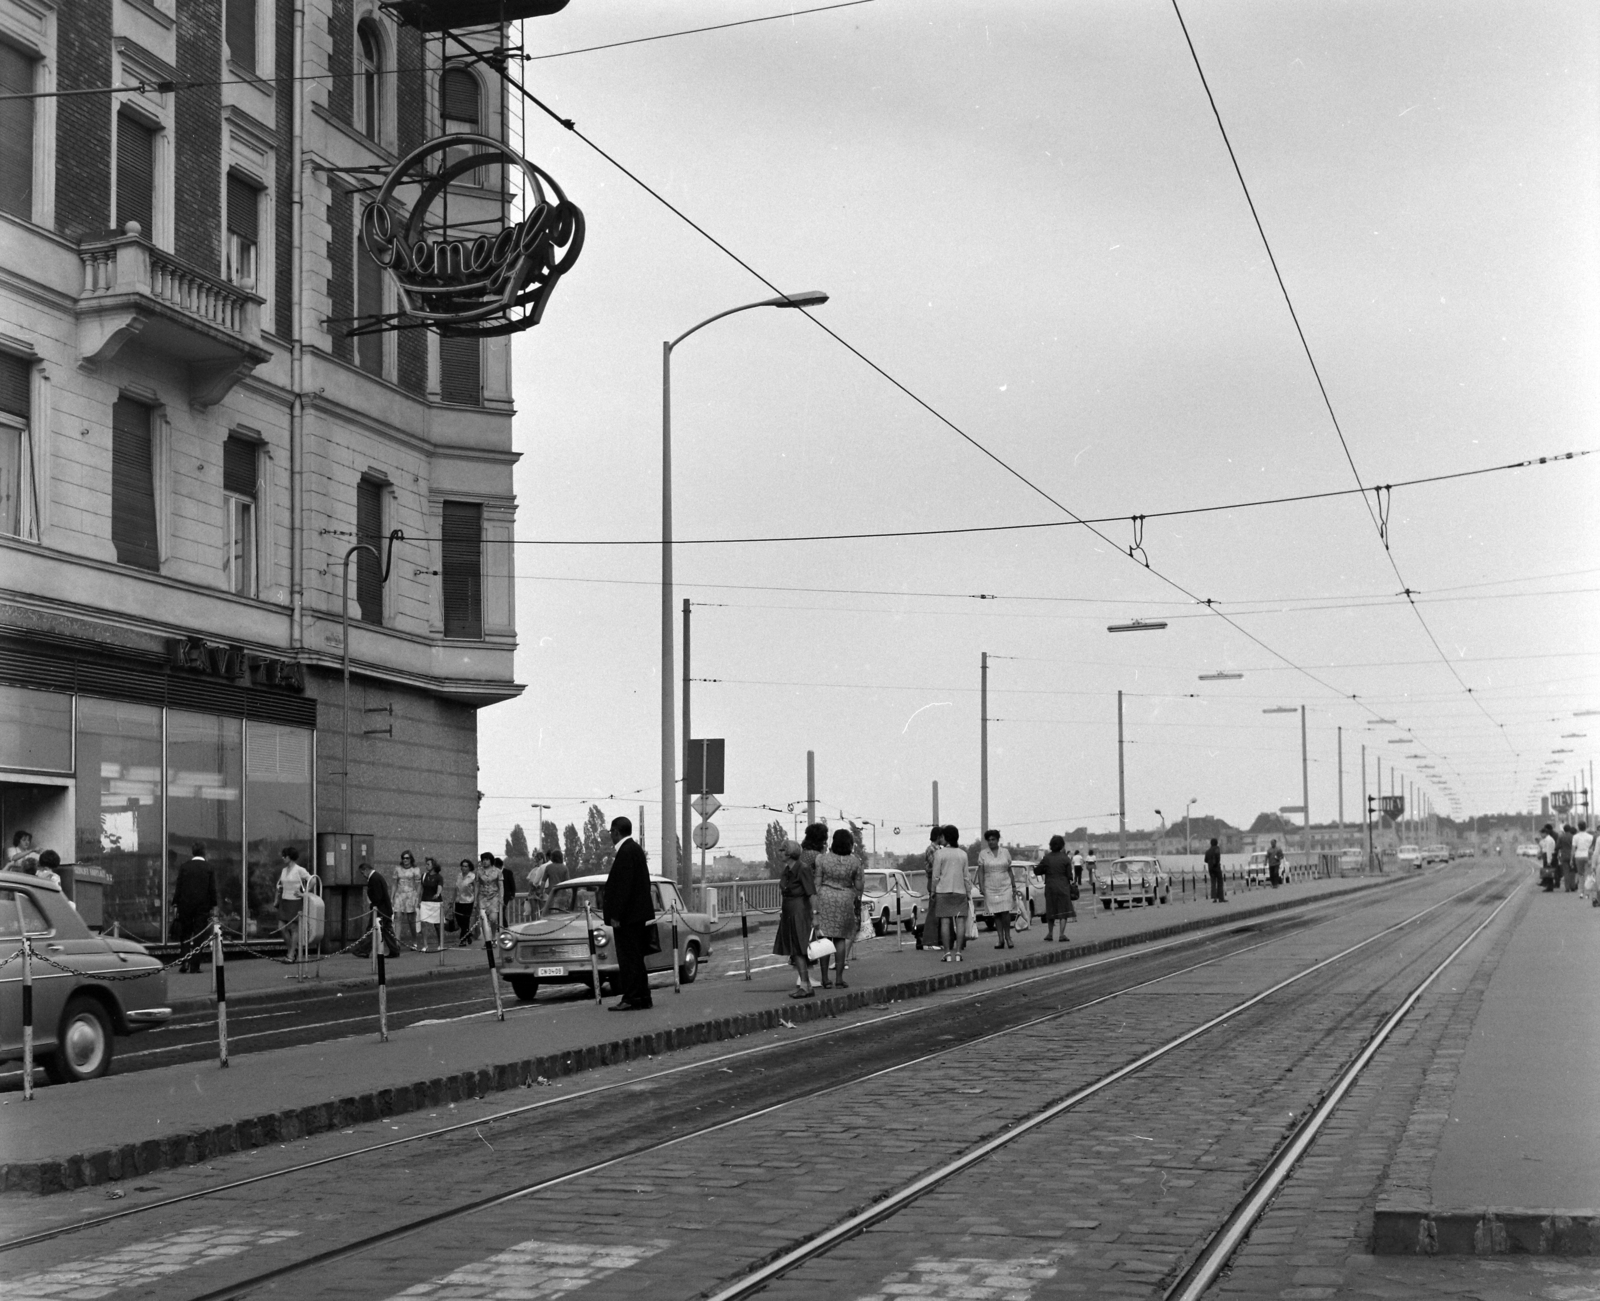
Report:
[[[493,166],[520,179],[528,210],[514,226],[485,232],[486,205],[451,186]],[[410,187],[418,195],[402,218],[395,192]],[[394,280],[402,317],[450,334],[510,334],[539,323],[555,283],[578,261],[584,214],[554,176],[491,136],[440,136],[384,179],[362,216],[362,243]]]

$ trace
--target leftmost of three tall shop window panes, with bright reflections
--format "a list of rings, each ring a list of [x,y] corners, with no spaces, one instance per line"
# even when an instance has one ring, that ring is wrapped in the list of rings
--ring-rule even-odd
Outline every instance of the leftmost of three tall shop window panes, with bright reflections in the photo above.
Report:
[[[67,698],[70,699],[70,698]],[[77,861],[110,874],[106,925],[160,941],[166,920],[162,875],[162,711],[150,704],[78,698]]]

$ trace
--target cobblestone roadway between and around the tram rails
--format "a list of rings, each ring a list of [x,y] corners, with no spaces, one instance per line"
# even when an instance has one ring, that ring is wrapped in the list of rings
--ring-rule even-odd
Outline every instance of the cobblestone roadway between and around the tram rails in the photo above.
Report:
[[[590,1285],[590,1275],[560,1271],[606,1267],[613,1272],[594,1288],[597,1298],[694,1296],[1382,922],[1398,920],[1467,880],[1493,877],[1482,871],[1438,880],[1411,895],[1403,911],[1394,904],[1352,907],[1349,915],[1285,931],[1253,952],[987,1042],[968,1042],[973,1027],[960,1019],[962,1008],[979,1023],[1014,1023],[1024,1013],[1075,1003],[1101,984],[1131,983],[1139,967],[1120,968],[1117,981],[1107,973],[1051,970],[1027,991],[968,995],[962,1008],[952,1003],[939,1015],[901,1024],[894,1034],[904,1042],[883,1053],[885,1063],[894,1064],[955,1045],[931,1061],[482,1207],[253,1295],[362,1301],[555,1296],[562,1293],[550,1288],[574,1290],[562,1279]],[[1454,943],[1448,936],[1459,938],[1469,919],[1480,915],[1478,904],[1448,904],[1397,939],[1379,941],[1274,995],[1226,1029],[954,1176],[893,1219],[800,1267],[770,1295],[1157,1295],[1294,1117],[1398,1002],[1397,991],[1448,952]],[[1195,960],[1192,952],[1186,955],[1186,962]],[[1168,960],[1166,970],[1181,965]],[[293,1187],[264,1184],[221,1194],[203,1203],[203,1216],[208,1223],[296,1231],[299,1237],[285,1239],[274,1255],[312,1255],[360,1232],[498,1192],[518,1178],[546,1178],[563,1162],[602,1157],[646,1136],[688,1135],[696,1125],[746,1112],[755,1095],[739,1095],[738,1087],[758,1091],[770,1067],[774,1074],[781,1069],[790,1085],[794,1072],[811,1083],[830,1075],[845,1080],[869,1056],[859,1042],[845,1048],[640,1083],[582,1114],[549,1112],[530,1123],[485,1127],[330,1167],[320,1178],[296,1176]],[[152,1216],[162,1218],[171,1227],[197,1213],[179,1207]],[[122,1229],[109,1226],[14,1253],[8,1267],[59,1261],[69,1243],[70,1251],[91,1258],[150,1232],[142,1221],[128,1221]],[[574,1255],[557,1258],[552,1243]],[[626,1267],[600,1264],[624,1259]],[[238,1263],[197,1263],[181,1280],[134,1283],[118,1295],[194,1296],[248,1272]],[[307,1282],[314,1285],[307,1288]]]

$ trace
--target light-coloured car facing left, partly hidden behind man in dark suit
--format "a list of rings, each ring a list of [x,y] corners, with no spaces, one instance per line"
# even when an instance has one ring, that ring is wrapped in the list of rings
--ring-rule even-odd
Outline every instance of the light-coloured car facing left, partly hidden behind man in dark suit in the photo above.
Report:
[[[650,879],[650,898],[656,909],[658,952],[645,955],[646,971],[672,970],[672,912],[677,911],[678,979],[690,984],[699,965],[710,957],[712,923],[704,912],[683,907],[678,887],[667,877]],[[589,930],[584,927],[584,904],[589,906]],[[525,1003],[539,994],[541,984],[582,984],[594,987],[589,965],[589,936],[594,935],[600,968],[600,992],[610,994],[616,984],[616,936],[602,922],[605,912],[605,877],[573,877],[550,891],[544,912],[531,922],[518,922],[499,933],[499,970],[512,992]]]

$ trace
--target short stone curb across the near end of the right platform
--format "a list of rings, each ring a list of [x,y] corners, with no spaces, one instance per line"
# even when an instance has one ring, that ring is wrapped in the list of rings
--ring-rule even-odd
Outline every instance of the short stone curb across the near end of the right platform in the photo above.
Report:
[[[1373,1213],[1374,1256],[1600,1256],[1600,1211],[1389,1207]]]

